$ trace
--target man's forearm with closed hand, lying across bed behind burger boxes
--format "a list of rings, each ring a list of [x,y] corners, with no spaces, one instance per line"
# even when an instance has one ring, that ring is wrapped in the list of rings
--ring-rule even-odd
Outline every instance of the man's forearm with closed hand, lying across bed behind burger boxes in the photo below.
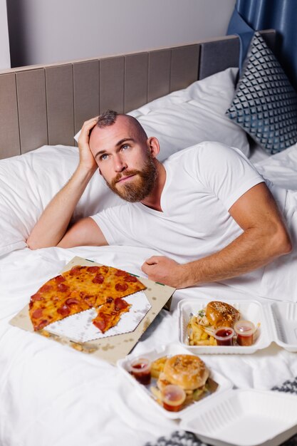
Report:
[[[142,271],[149,279],[179,289],[231,279],[260,268],[289,251],[291,242],[284,228],[280,227],[273,234],[248,229],[215,254],[186,264],[165,256],[152,256],[142,265]]]

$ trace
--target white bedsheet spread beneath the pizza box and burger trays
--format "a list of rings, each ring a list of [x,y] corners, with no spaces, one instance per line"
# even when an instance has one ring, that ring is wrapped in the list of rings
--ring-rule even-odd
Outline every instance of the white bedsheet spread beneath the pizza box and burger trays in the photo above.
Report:
[[[259,170],[297,190],[297,148],[260,163]],[[73,256],[142,275],[140,266],[152,254],[136,247],[25,248],[0,259],[1,446],[142,446],[178,428],[142,400],[113,365],[9,325],[29,296]],[[194,296],[238,300],[250,295],[219,284],[176,291],[172,311],[161,311],[135,351],[177,342],[177,302]],[[296,353],[276,344],[253,355],[202,358],[239,388],[269,389],[297,375]]]

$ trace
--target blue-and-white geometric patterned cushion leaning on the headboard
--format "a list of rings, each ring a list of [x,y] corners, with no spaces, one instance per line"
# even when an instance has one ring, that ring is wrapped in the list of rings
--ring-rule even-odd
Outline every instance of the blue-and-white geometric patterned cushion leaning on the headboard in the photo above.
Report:
[[[271,154],[297,142],[297,94],[256,32],[226,115]]]

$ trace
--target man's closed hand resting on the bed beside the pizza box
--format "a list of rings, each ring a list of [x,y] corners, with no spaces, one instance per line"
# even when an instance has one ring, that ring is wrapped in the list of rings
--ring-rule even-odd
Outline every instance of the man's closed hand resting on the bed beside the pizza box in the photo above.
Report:
[[[184,267],[185,265],[168,257],[152,256],[145,261],[141,269],[150,280],[179,289],[190,285],[187,283]]]

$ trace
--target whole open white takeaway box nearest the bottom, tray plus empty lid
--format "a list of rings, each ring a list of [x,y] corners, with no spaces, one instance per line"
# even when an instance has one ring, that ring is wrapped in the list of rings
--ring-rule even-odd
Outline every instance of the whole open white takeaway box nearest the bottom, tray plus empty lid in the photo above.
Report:
[[[189,354],[189,351],[172,344],[149,351],[142,358],[155,361],[162,356],[177,354]],[[143,402],[143,413],[145,403],[153,405],[160,415],[175,419],[179,429],[194,432],[207,445],[278,446],[297,433],[296,395],[271,390],[234,390],[229,380],[211,370],[211,378],[219,384],[217,391],[187,408],[173,412],[157,403],[149,386],[138,383],[129,373],[134,358],[136,356],[131,354],[120,359],[117,365],[127,380],[137,388]],[[207,364],[206,360],[204,358]]]

